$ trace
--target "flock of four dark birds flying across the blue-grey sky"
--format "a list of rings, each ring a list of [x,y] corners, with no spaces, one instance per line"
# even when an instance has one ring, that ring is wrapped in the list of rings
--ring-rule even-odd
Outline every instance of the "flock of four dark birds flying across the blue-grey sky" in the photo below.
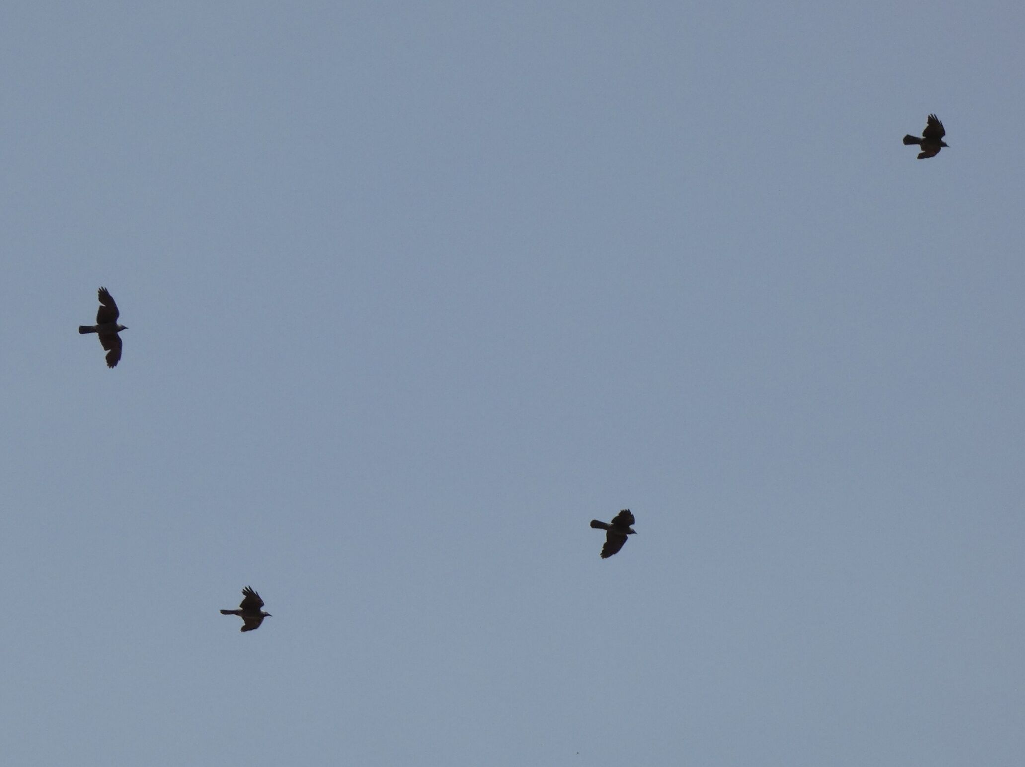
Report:
[[[917,145],[921,149],[921,152],[918,153],[918,159],[925,160],[930,157],[936,157],[940,149],[949,146],[943,140],[944,135],[946,135],[946,131],[943,129],[943,123],[940,122],[936,115],[930,115],[926,120],[926,129],[921,131],[921,135],[913,136],[908,133],[904,136],[904,144]],[[115,302],[114,296],[111,295],[110,291],[101,287],[98,294],[99,311],[96,312],[96,324],[80,325],[78,332],[83,334],[96,333],[99,336],[100,345],[107,352],[107,366],[116,367],[121,360],[120,333],[122,330],[127,330],[128,328],[118,322],[121,313],[118,311],[118,305]],[[620,511],[619,514],[612,518],[611,522],[602,522],[597,519],[590,521],[591,527],[598,530],[605,530],[605,546],[602,547],[602,559],[608,559],[617,554],[626,542],[626,536],[637,533],[637,530],[633,529],[636,522],[637,520],[629,509]],[[271,613],[263,609],[263,600],[259,594],[249,586],[242,590],[242,602],[239,604],[239,609],[221,610],[220,613],[221,615],[238,615],[241,617],[242,631],[244,632],[259,629],[260,623],[263,622],[263,618],[271,617]]]

